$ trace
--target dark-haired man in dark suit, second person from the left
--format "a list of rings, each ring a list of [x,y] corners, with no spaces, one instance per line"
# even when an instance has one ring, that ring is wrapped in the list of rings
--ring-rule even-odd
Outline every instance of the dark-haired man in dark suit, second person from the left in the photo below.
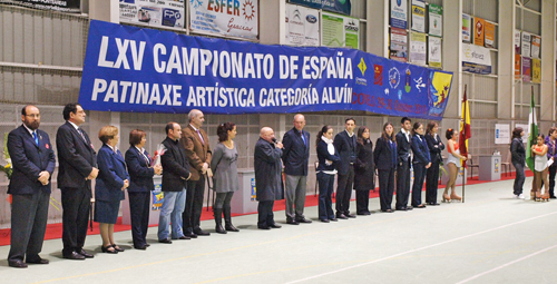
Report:
[[[91,206],[91,179],[97,178],[97,158],[91,140],[79,126],[85,110],[79,104],[63,107],[63,119],[56,133],[58,187],[62,193],[62,256],[68,259],[92,258],[84,251]]]

